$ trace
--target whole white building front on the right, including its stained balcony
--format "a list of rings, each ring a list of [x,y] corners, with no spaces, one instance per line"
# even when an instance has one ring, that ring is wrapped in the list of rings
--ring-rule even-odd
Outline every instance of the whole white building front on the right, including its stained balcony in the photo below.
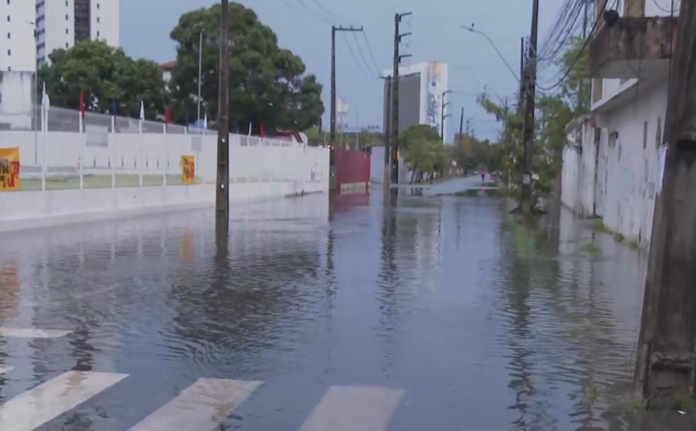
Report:
[[[616,8],[590,43],[591,115],[568,127],[562,200],[647,247],[661,191],[668,74],[679,1],[599,0]]]

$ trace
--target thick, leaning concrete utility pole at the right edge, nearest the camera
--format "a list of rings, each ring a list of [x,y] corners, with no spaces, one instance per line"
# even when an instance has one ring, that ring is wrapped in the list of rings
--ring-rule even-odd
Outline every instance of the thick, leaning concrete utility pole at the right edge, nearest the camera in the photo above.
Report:
[[[635,372],[637,393],[667,407],[696,393],[696,1],[678,22]]]

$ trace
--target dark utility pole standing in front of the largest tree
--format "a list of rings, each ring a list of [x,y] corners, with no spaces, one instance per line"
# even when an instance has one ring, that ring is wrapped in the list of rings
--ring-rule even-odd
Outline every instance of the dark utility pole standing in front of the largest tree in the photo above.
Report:
[[[229,31],[227,25],[228,0],[221,0],[220,17],[220,93],[218,113],[218,154],[215,210],[219,215],[230,212],[230,119],[229,119]]]

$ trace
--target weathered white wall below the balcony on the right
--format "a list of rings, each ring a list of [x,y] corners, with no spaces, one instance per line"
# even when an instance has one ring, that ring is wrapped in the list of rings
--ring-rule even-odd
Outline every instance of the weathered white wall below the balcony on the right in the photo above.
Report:
[[[581,142],[581,149],[569,147],[563,153],[564,205],[581,216],[602,217],[605,226],[642,247],[650,243],[661,189],[666,108],[666,82],[643,86],[626,103],[596,113],[595,118],[601,117],[598,142],[591,122],[571,127],[569,141]]]

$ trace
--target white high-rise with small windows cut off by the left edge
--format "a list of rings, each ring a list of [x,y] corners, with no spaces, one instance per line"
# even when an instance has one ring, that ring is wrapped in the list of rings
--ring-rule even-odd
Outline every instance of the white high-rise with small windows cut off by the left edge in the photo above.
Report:
[[[29,0],[0,0],[0,71],[35,71],[35,11]]]

